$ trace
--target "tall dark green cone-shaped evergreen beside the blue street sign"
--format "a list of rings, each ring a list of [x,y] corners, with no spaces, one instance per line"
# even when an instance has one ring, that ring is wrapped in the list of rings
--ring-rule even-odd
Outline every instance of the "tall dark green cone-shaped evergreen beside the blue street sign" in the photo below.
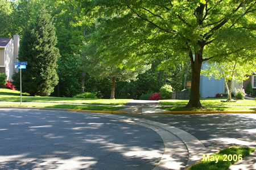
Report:
[[[22,71],[23,92],[31,96],[49,96],[53,92],[59,81],[56,61],[60,54],[56,42],[51,15],[43,8],[20,42],[19,61],[28,63]]]

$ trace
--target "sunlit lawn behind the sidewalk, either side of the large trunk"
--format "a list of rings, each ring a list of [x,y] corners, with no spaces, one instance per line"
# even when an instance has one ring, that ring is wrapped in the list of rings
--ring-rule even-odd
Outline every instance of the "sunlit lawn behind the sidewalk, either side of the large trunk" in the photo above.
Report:
[[[237,100],[237,102],[221,102],[221,100],[225,100],[224,98],[201,98],[202,105],[208,106],[256,106],[256,100],[252,99],[243,99]],[[166,99],[160,100],[160,105],[187,105],[187,100],[181,99]]]

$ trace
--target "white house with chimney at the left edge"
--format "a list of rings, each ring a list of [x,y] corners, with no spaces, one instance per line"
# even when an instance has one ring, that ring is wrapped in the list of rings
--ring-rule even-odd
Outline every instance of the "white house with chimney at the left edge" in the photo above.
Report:
[[[18,62],[19,35],[13,38],[0,38],[0,73],[5,73],[7,80],[15,72],[14,62]]]

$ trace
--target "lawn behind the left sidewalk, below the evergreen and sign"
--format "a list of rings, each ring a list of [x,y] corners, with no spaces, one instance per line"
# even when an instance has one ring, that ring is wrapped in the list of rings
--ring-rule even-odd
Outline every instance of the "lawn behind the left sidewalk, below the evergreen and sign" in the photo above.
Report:
[[[16,90],[0,89],[0,101],[19,102],[20,93]],[[71,97],[40,97],[27,96],[26,93],[22,96],[23,102],[53,102],[53,103],[79,103],[90,105],[123,105],[131,99],[84,99]]]

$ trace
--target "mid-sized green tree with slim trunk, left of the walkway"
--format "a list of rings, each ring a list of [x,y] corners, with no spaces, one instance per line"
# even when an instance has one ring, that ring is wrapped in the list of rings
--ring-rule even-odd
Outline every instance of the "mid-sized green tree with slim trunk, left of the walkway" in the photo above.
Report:
[[[135,81],[139,73],[144,73],[151,65],[140,65],[136,61],[123,60],[119,65],[114,65],[105,57],[96,52],[95,44],[86,44],[82,52],[82,70],[96,78],[112,80],[110,99],[115,98],[115,83],[117,81]]]

